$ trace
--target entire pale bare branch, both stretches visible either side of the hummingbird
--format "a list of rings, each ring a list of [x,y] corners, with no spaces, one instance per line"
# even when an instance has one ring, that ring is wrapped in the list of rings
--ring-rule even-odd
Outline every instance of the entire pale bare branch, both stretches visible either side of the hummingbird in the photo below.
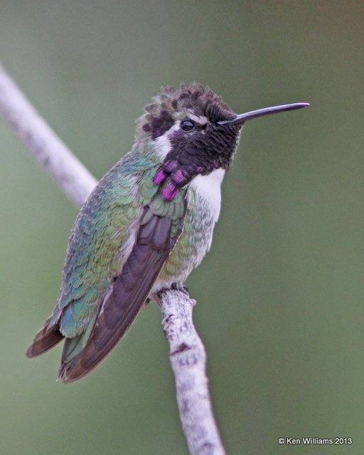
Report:
[[[97,184],[38,115],[0,63],[0,114],[68,198],[80,207]],[[191,455],[223,455],[206,377],[206,354],[192,309],[195,301],[176,289],[159,294],[162,326],[169,343],[178,409]]]

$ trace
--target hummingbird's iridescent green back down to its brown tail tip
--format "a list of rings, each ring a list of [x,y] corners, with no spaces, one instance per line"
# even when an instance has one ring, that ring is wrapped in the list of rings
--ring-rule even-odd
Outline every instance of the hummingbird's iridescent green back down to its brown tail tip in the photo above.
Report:
[[[80,210],[68,241],[58,302],[28,348],[28,357],[41,355],[63,337],[65,355],[87,341],[87,328],[95,323],[102,297],[131,250],[134,224],[142,213],[139,188],[152,180],[155,164],[141,159],[135,151],[124,156]],[[152,182],[149,187],[152,192],[158,189]]]

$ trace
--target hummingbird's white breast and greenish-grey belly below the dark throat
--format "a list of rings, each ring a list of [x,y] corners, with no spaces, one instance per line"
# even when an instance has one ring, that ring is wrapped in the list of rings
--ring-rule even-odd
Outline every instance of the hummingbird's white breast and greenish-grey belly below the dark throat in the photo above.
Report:
[[[189,184],[183,232],[166,260],[151,294],[172,283],[183,284],[210,250],[213,229],[220,215],[220,186],[224,174],[223,169],[217,169],[207,176],[196,176]]]

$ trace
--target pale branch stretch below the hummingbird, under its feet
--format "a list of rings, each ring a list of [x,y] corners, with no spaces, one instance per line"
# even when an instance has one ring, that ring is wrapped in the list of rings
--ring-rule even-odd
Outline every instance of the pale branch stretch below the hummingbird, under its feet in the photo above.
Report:
[[[162,291],[159,299],[176,380],[179,415],[190,453],[223,455],[225,450],[208,391],[205,348],[193,326],[192,309],[196,301],[176,289]]]

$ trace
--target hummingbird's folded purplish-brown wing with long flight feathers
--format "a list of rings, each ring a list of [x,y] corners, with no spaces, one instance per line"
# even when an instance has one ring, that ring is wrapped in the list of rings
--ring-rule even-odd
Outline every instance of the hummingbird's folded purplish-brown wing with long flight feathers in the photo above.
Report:
[[[186,201],[184,203],[186,205]],[[122,273],[105,294],[85,347],[61,365],[59,377],[63,382],[72,382],[90,373],[117,345],[176,245],[182,232],[183,217],[173,219],[154,211],[149,205],[144,208],[132,252]]]

